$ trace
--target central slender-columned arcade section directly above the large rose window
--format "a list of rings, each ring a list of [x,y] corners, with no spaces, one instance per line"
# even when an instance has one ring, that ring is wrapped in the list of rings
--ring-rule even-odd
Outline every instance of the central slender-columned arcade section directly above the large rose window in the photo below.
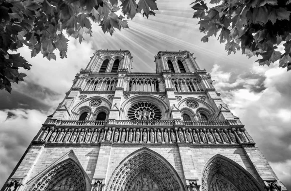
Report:
[[[159,81],[156,78],[130,78],[128,91],[159,92]]]

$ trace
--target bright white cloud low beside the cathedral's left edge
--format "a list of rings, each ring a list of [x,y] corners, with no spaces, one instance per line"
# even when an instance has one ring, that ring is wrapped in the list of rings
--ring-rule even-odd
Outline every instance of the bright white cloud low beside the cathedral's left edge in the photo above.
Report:
[[[46,113],[37,110],[0,111],[0,185],[4,185],[46,118]]]

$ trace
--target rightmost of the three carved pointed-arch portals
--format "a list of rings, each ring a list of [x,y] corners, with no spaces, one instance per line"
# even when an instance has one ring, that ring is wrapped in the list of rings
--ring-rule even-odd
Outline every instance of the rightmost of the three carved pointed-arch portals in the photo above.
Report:
[[[263,191],[249,172],[220,154],[205,164],[201,179],[201,191]]]

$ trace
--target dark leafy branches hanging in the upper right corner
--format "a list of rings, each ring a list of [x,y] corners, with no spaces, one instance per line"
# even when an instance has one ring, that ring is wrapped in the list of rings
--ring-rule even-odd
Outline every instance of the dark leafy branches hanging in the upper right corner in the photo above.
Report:
[[[279,60],[279,66],[291,69],[291,0],[204,0],[192,4],[194,18],[199,18],[201,39],[218,36],[226,43],[228,54],[242,49],[249,58],[256,55],[260,65],[270,65]],[[283,44],[284,53],[278,51]]]

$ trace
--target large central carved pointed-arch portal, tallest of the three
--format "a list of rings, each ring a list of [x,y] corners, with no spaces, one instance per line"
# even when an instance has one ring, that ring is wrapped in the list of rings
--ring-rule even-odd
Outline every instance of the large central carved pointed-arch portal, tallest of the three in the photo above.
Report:
[[[185,188],[166,159],[142,148],[115,168],[105,191],[185,191]]]

